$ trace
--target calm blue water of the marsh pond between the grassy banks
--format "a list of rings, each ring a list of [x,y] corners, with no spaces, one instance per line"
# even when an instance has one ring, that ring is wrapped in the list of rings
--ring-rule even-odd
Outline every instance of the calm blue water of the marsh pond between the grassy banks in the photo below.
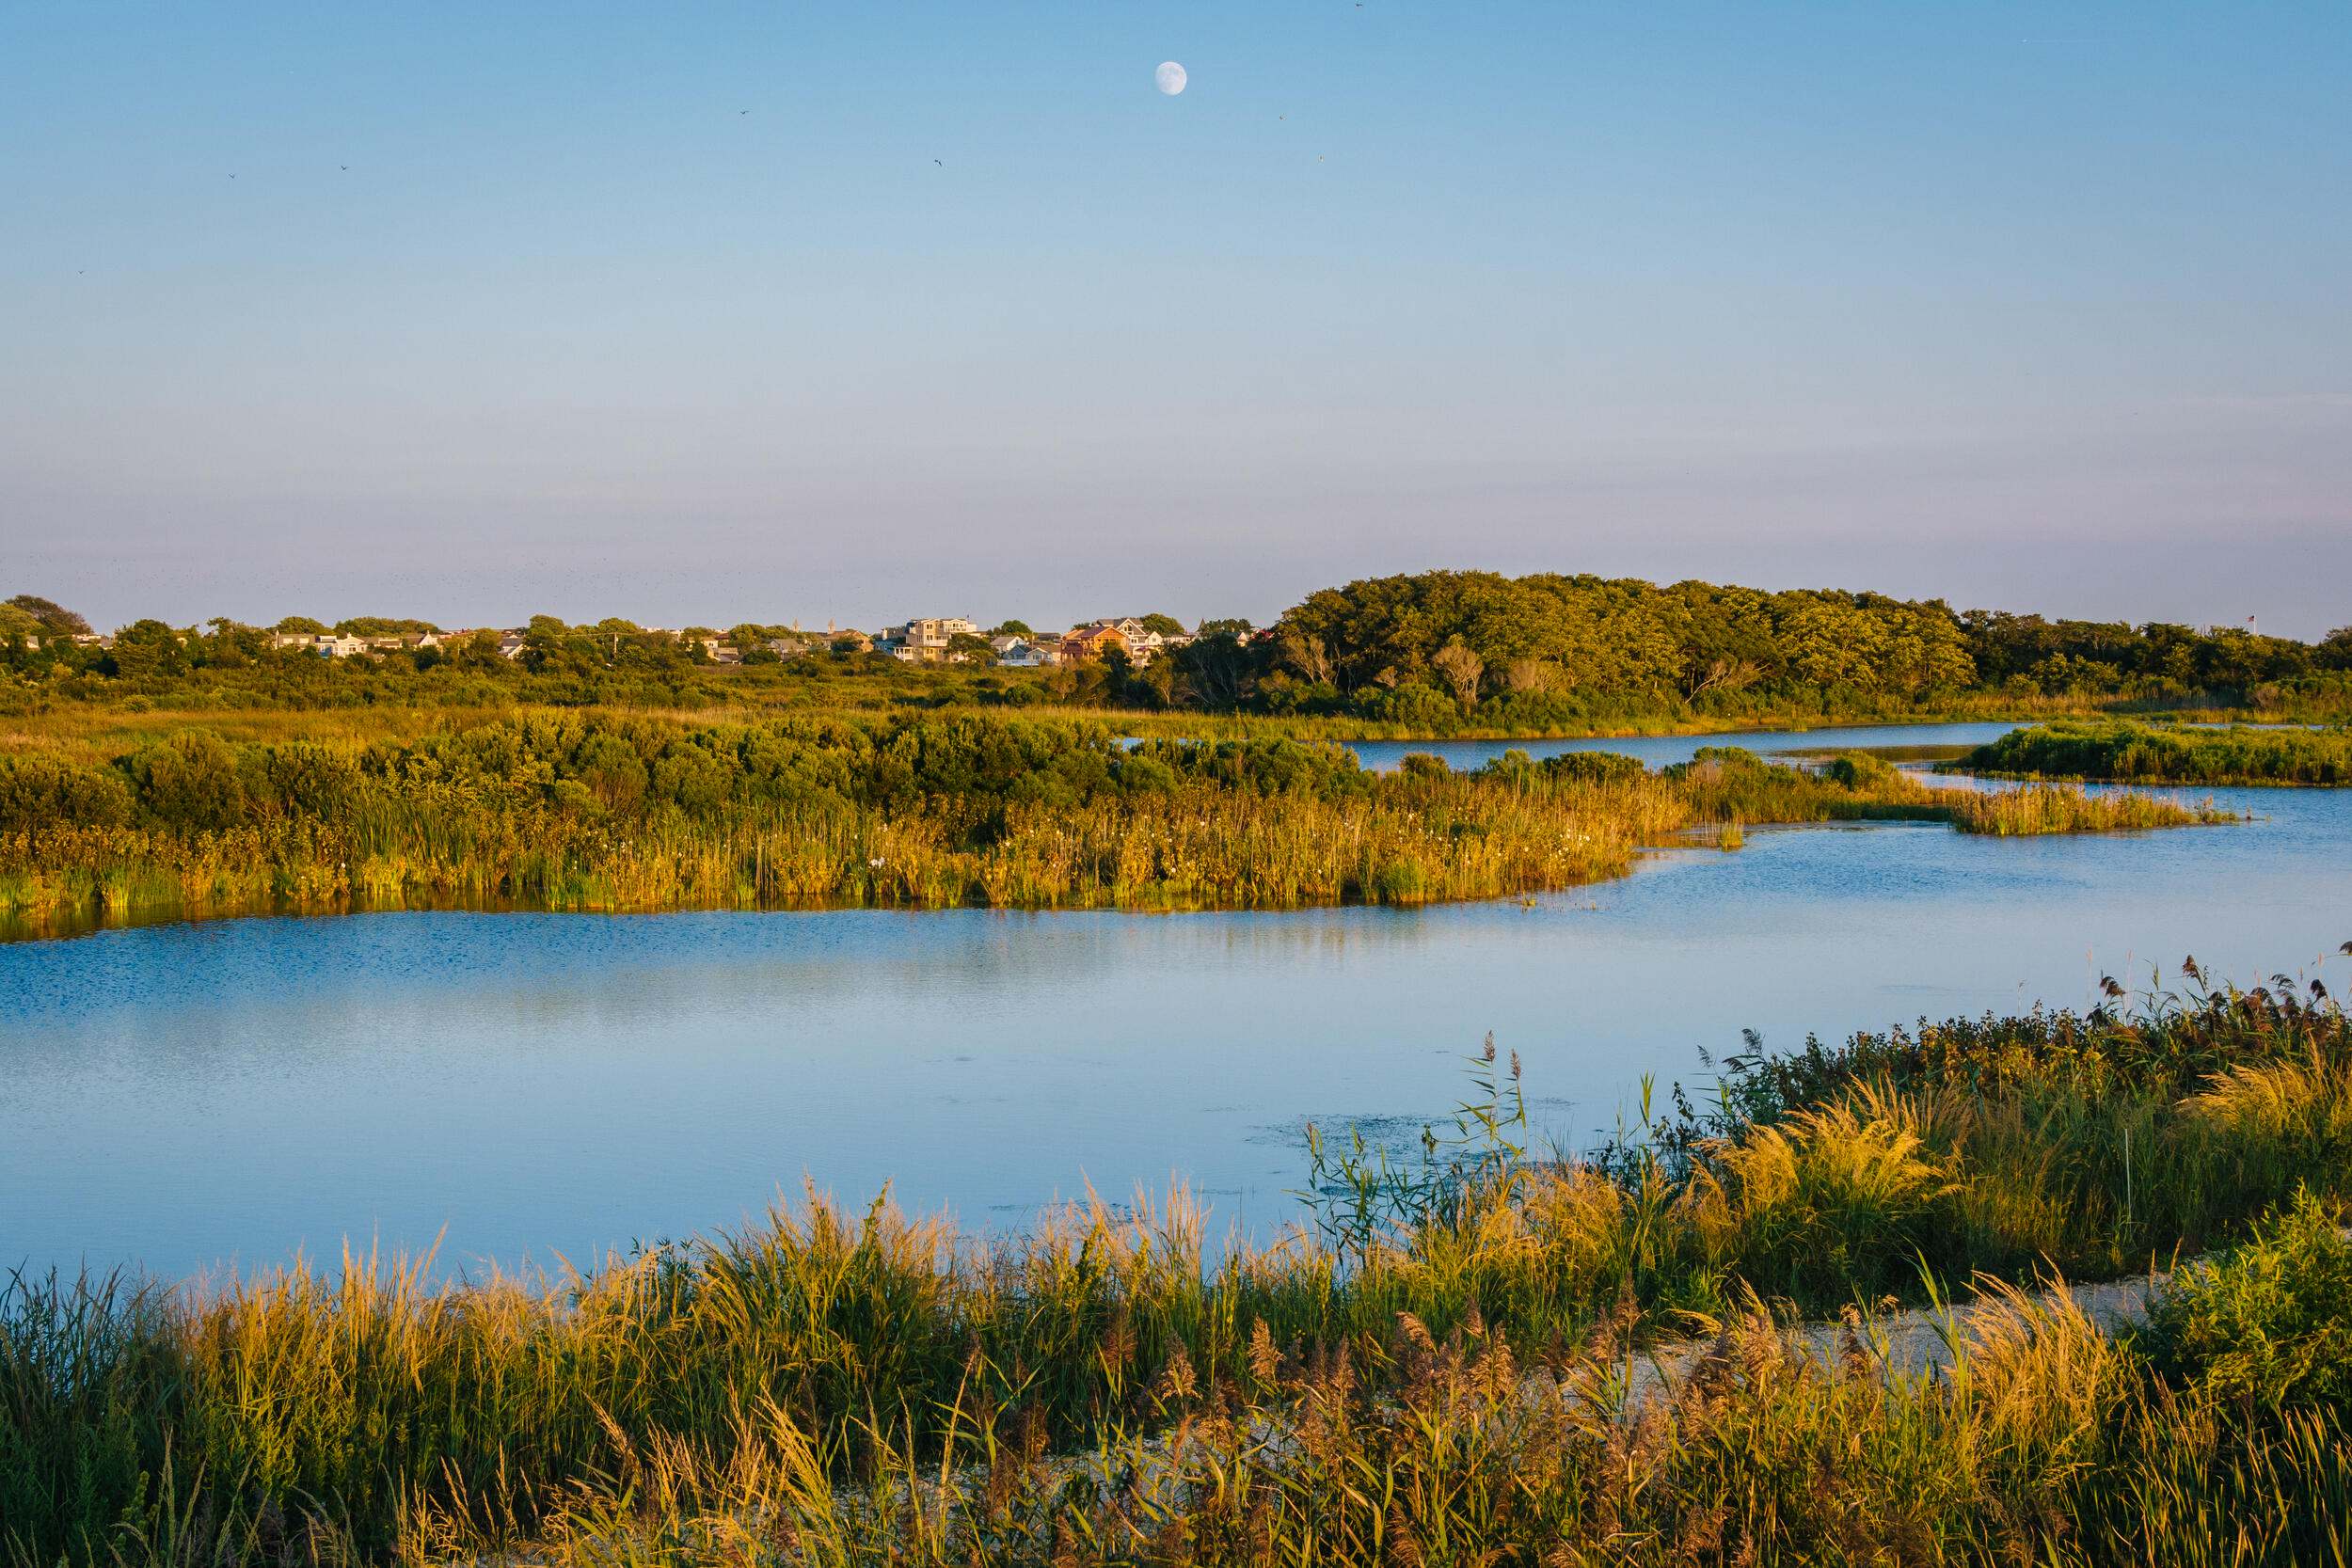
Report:
[[[1825,731],[1856,745],[2002,726]],[[1778,738],[1750,738],[1769,750]],[[1693,741],[1606,741],[1649,762]],[[1501,745],[1362,748],[1371,762]],[[1562,750],[1534,745],[1529,750]],[[1444,1112],[1486,1030],[1583,1140],[1700,1048],[2082,1006],[2183,952],[2352,992],[2352,792],[2244,827],[1757,830],[1616,884],[1296,914],[365,914],[0,947],[0,1265],[445,1262],[736,1225],[814,1180],[1014,1225],[1190,1180],[1270,1227],[1308,1117]]]

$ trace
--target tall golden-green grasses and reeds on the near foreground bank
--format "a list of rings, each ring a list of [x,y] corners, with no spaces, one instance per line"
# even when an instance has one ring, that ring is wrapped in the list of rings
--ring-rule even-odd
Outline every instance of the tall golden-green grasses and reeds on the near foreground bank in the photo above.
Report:
[[[564,1279],[19,1279],[0,1544],[1729,1563],[2343,1540],[2352,1025],[2319,987],[2190,964],[2131,1009],[1743,1056],[1705,1112],[1569,1161],[1522,1147],[1515,1063],[1475,1074],[1428,1159],[1327,1140],[1315,1225],[1256,1251],[1221,1253],[1181,1197],[990,1244],[811,1199]],[[2232,1244],[2138,1345],[2011,1302],[1938,1385],[1875,1375],[1865,1333],[1844,1373],[1804,1363],[1757,1316]],[[1717,1354],[1616,1420],[1628,1347],[1710,1324]]]

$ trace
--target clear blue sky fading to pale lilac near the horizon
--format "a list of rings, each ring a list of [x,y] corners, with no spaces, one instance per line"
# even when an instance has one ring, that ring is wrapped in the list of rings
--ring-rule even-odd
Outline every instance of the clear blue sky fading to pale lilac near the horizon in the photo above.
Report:
[[[2343,0],[7,0],[0,592],[2317,637],[2347,82]]]

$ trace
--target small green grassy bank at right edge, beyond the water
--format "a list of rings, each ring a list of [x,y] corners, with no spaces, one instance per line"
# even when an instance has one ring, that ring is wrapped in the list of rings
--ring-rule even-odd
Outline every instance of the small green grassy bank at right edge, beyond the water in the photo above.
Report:
[[[1957,766],[1992,778],[2352,785],[2352,731],[2034,724],[1976,748]]]

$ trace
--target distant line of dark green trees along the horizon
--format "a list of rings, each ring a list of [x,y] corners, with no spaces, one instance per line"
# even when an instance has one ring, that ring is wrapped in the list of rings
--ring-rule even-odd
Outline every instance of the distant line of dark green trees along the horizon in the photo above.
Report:
[[[80,679],[71,693],[89,696],[120,682],[212,684],[275,701],[379,689],[412,701],[473,691],[543,703],[689,701],[720,691],[715,675],[762,679],[757,665],[828,679],[913,675],[823,637],[779,656],[767,644],[790,628],[762,625],[708,632],[743,651],[748,668],[724,672],[710,668],[706,628],[673,635],[621,618],[534,616],[517,658],[487,632],[383,661],[320,661],[226,618],[202,628],[136,621],[111,646],[73,642],[87,630],[80,616],[19,595],[0,607],[0,668],[19,684]],[[327,628],[294,618],[273,630]],[[336,630],[430,628],[379,616]],[[1350,717],[1437,733],[1468,722],[1541,731],[1658,712],[1893,715],[1962,698],[2352,708],[2352,628],[2300,642],[2159,621],[1955,611],[1943,599],[1877,592],[1421,571],[1310,592],[1272,628],[1204,621],[1190,646],[1143,668],[1117,654],[1035,672],[976,661],[924,679],[941,701]]]

